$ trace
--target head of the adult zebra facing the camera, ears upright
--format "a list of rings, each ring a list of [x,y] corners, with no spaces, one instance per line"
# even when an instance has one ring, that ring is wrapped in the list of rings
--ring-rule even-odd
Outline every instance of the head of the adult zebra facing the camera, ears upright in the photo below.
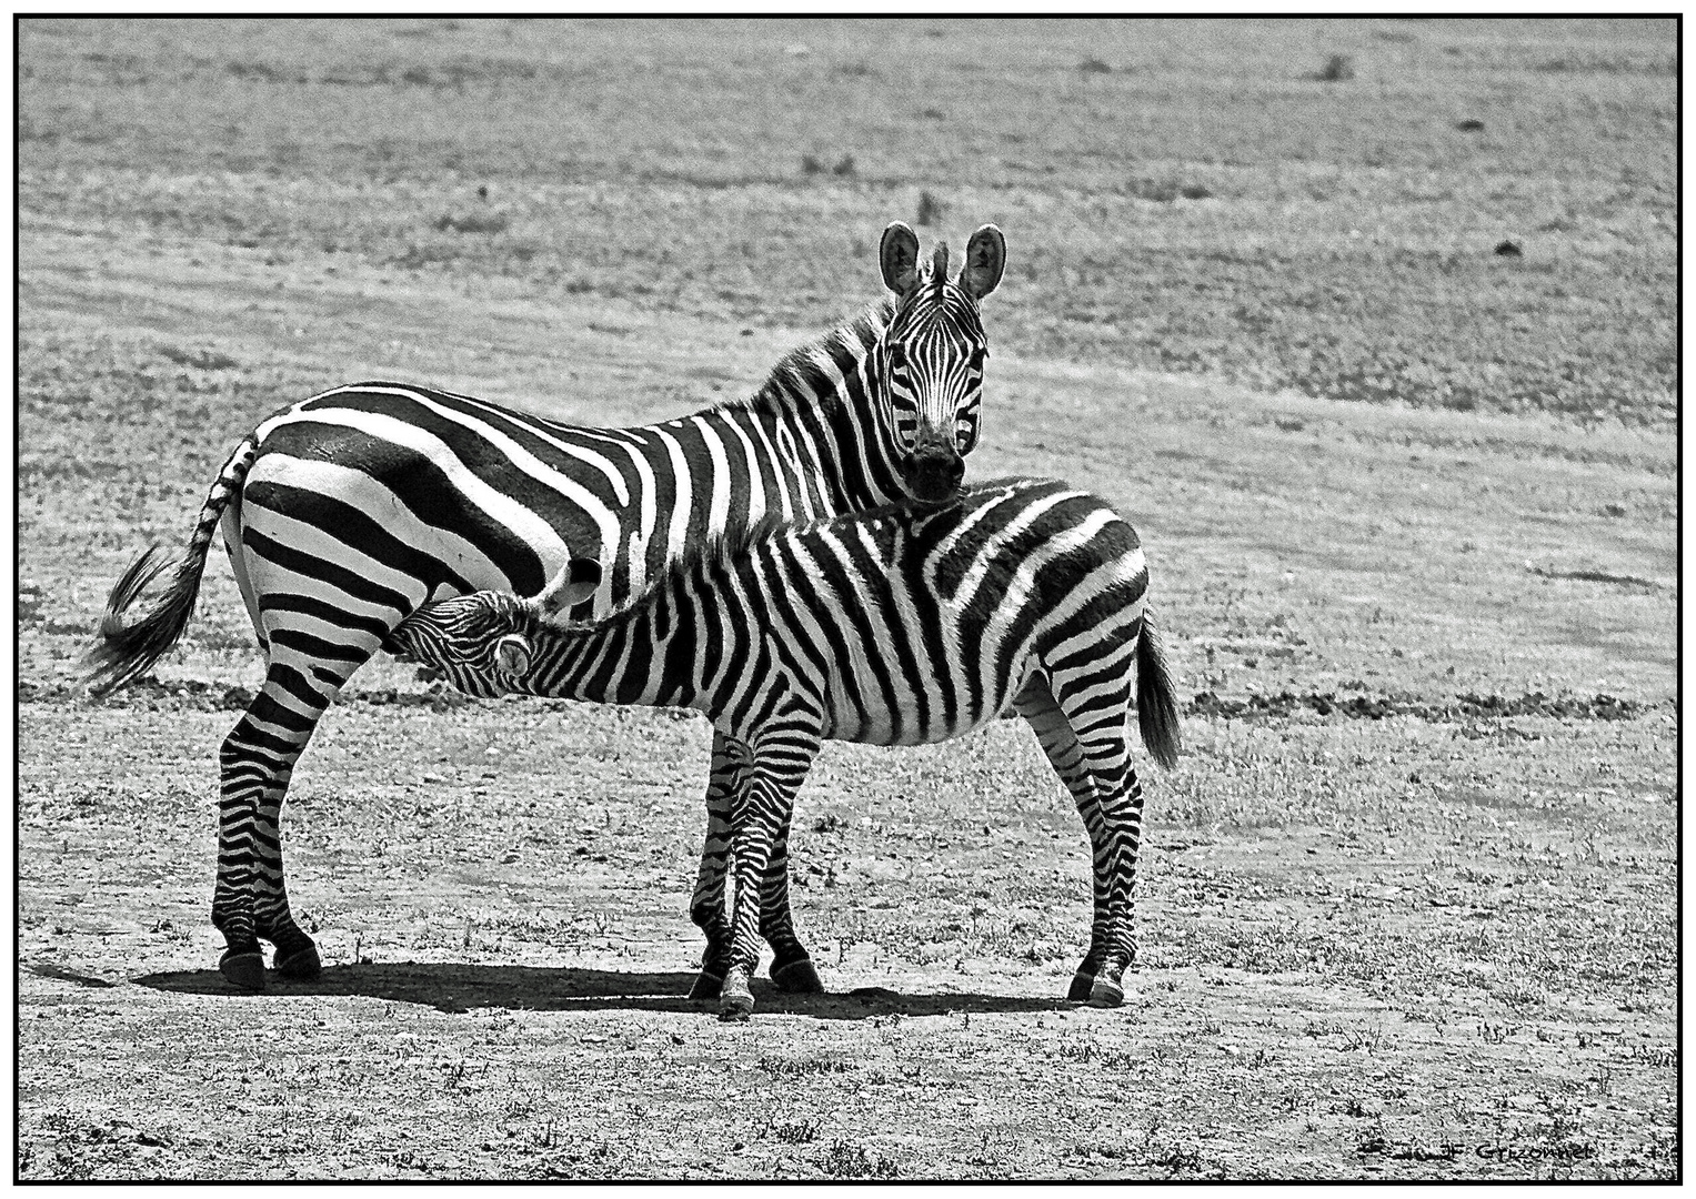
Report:
[[[977,446],[989,356],[977,302],[1001,283],[1007,241],[996,226],[979,229],[965,244],[960,275],[950,280],[948,246],[936,246],[926,271],[918,236],[895,220],[884,231],[879,265],[899,298],[872,348],[873,376],[882,382],[877,399],[901,485],[914,500],[943,504],[960,494],[965,456]]]

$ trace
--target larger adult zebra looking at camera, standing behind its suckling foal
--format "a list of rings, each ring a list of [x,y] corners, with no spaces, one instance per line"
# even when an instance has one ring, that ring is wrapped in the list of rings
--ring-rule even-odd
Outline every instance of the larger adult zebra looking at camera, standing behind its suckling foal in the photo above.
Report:
[[[607,563],[580,612],[605,614],[690,544],[765,516],[950,499],[979,439],[989,353],[979,300],[1004,265],[1001,231],[984,226],[950,280],[946,246],[926,270],[914,232],[894,222],[879,248],[892,297],[790,353],[753,397],[655,426],[578,427],[468,395],[354,383],[244,438],[170,588],[144,616],[126,616],[170,565],[148,549],[114,585],[88,655],[97,695],[151,668],[181,636],[222,527],[266,653],[265,683],[219,753],[212,923],[227,945],[224,975],[261,989],[261,941],[276,948],[285,977],[319,972],[317,946],[288,907],[283,797],[324,709],[395,626],[431,600],[478,588],[536,595],[572,558]],[[728,936],[714,897],[733,772],[716,736],[690,904],[709,956]],[[782,856],[778,845],[773,872]],[[773,889],[773,907],[787,911]],[[817,989],[794,929],[773,926],[770,936],[778,985]]]

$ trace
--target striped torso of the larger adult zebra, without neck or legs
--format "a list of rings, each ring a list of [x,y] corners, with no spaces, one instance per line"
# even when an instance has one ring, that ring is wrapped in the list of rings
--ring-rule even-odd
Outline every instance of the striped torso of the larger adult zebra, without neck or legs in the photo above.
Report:
[[[721,409],[578,427],[426,387],[353,383],[258,427],[243,538],[282,566],[273,575],[314,575],[297,558],[353,565],[373,583],[354,597],[377,604],[480,588],[534,595],[565,561],[595,558],[607,568],[595,611],[607,611],[687,544],[767,505],[824,510],[767,424]]]

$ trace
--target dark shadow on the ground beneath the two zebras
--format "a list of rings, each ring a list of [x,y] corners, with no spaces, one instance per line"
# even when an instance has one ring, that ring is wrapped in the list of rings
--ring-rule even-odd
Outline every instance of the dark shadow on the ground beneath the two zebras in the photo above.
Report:
[[[488,967],[453,962],[397,962],[326,967],[310,982],[268,975],[263,995],[368,995],[427,1004],[444,1012],[473,1007],[522,1011],[712,1012],[716,999],[689,999],[695,975],[685,972],[585,970],[577,967]],[[198,995],[261,997],[226,982],[217,970],[171,970],[131,979],[139,987]],[[1075,1007],[1065,999],[934,992],[904,995],[884,987],[841,994],[785,995],[770,982],[753,984],[756,1012],[819,1019],[941,1016],[946,1012],[1045,1012]]]

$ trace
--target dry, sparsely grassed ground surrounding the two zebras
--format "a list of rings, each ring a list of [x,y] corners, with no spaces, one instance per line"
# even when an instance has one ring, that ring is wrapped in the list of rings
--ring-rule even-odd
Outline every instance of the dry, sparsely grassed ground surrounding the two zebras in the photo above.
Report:
[[[1671,36],[936,31],[24,27],[20,1177],[1677,1172]],[[251,631],[214,560],[90,704],[127,558],[332,382],[745,392],[919,192],[926,237],[1009,237],[972,470],[1150,544],[1187,755],[1126,1007],[1058,999],[1087,855],[1019,724],[828,750],[795,902],[834,994],[724,1026],[682,997],[704,728],[393,663],[290,799],[324,979],[229,990]]]

